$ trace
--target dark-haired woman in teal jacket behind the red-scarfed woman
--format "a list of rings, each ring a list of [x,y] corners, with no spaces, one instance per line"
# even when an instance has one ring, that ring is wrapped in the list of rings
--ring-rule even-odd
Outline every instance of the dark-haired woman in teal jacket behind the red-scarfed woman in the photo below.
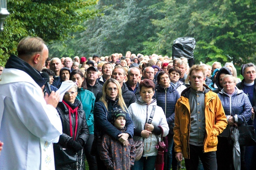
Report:
[[[83,110],[85,112],[85,118],[87,121],[87,125],[89,128],[89,139],[84,146],[85,150],[85,156],[89,165],[89,170],[96,169],[97,164],[96,164],[96,159],[95,156],[92,156],[90,154],[91,151],[91,145],[94,140],[94,102],[95,102],[95,96],[93,92],[90,92],[89,90],[86,90],[86,81],[84,78],[84,75],[82,72],[79,70],[73,70],[70,74],[70,79],[73,82],[76,82],[77,85],[77,96],[76,99],[78,99],[82,105],[83,105]]]

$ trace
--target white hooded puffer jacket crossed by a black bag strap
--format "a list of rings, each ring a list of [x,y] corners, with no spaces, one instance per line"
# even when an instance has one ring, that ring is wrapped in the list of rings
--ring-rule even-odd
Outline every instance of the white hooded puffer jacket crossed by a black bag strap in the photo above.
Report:
[[[141,132],[144,130],[145,123],[148,122],[150,118],[150,114],[152,112],[153,106],[156,106],[155,114],[152,119],[153,126],[162,126],[163,128],[163,136],[167,136],[169,133],[169,126],[166,121],[165,113],[163,109],[156,105],[156,99],[153,99],[150,105],[147,105],[141,97],[139,97],[135,103],[131,104],[128,108],[130,117],[133,121],[134,128],[136,131]],[[161,134],[157,136],[152,133],[152,135],[148,138],[143,138],[142,136],[135,136],[133,140],[144,141],[144,151],[143,156],[156,156],[157,149],[156,144],[160,141]],[[158,139],[157,139],[158,138]]]

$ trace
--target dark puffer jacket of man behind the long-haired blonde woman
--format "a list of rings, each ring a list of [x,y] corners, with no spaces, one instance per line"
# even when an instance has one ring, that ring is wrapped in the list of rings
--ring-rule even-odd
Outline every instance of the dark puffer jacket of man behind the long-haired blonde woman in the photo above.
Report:
[[[135,94],[128,90],[125,83],[123,83],[123,86],[122,86],[122,96],[124,98],[125,105],[127,108],[130,106],[130,104],[136,101]],[[98,102],[101,97],[102,97],[102,91],[97,94],[95,103]]]

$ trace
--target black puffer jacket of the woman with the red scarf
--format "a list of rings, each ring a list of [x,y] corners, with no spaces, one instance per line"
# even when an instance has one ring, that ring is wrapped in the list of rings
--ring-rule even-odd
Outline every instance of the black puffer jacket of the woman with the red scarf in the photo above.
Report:
[[[77,100],[77,99],[75,99]],[[78,100],[77,100],[78,101]],[[58,143],[54,143],[54,147],[56,147],[57,145],[61,145],[64,148],[67,148],[67,143],[70,139],[73,140],[77,140],[77,139],[82,139],[83,140],[83,145],[84,146],[87,142],[87,140],[89,139],[89,129],[86,123],[86,118],[85,118],[85,113],[83,110],[83,106],[81,104],[80,101],[79,102],[79,106],[78,106],[78,125],[77,125],[77,132],[76,132],[76,138],[74,139],[74,134],[75,134],[75,114],[71,113],[71,118],[72,118],[72,130],[73,130],[73,137],[70,136],[70,123],[69,123],[69,110],[67,108],[67,106],[62,103],[59,102],[58,106],[57,106],[57,111],[60,115],[60,119],[61,119],[61,123],[62,123],[62,132],[63,134],[60,135],[59,137],[59,142]],[[67,148],[68,149],[68,148]],[[82,150],[77,152],[77,159],[80,160],[78,161],[78,168],[80,169],[80,165],[82,166],[81,169],[85,169],[85,163],[84,163],[84,150],[83,150],[83,154],[82,154]],[[81,161],[81,154],[82,154],[82,161]],[[81,164],[82,162],[82,164]],[[55,165],[55,169],[77,169],[77,165],[76,163],[73,164],[68,164],[68,165],[63,165],[63,166],[58,166]]]

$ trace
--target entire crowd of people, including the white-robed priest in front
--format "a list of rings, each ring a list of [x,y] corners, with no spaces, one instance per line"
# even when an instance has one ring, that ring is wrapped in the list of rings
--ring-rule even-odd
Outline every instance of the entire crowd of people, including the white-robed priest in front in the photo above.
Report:
[[[185,57],[130,51],[50,59],[38,37],[17,51],[0,66],[0,169],[85,169],[86,158],[90,170],[154,170],[163,130],[165,170],[183,159],[186,169],[231,170],[232,130],[256,128],[253,63],[241,80],[232,62],[189,67]],[[75,84],[59,102],[62,82]],[[134,141],[143,142],[138,161]],[[63,149],[76,161],[63,164]],[[240,150],[241,169],[254,169],[256,146]]]

